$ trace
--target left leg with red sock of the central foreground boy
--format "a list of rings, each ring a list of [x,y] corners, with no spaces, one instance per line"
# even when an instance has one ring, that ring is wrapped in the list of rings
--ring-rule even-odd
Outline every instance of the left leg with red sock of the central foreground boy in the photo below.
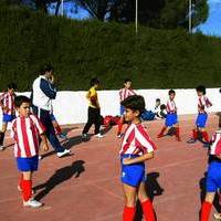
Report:
[[[123,191],[125,197],[123,221],[134,221],[137,189],[136,187],[123,183]]]

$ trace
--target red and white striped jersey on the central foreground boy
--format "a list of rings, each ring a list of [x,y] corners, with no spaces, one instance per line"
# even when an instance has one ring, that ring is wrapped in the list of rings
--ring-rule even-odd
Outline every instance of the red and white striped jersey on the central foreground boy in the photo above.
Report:
[[[120,155],[144,155],[156,149],[156,145],[149,138],[141,124],[130,124],[124,135]]]

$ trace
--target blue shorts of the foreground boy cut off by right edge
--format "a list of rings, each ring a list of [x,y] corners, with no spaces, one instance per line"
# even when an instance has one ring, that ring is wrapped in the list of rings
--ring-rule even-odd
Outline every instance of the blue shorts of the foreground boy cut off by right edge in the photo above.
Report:
[[[221,188],[221,162],[213,161],[208,167],[207,192],[215,192]]]

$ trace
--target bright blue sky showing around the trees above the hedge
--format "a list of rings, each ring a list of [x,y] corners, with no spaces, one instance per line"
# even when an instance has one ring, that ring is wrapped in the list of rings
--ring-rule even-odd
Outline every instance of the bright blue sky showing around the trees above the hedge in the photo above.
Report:
[[[221,0],[208,0],[209,3],[209,18],[206,23],[201,24],[199,30],[208,35],[221,36]],[[87,19],[90,14],[87,11],[78,8],[77,11],[74,10],[73,3],[65,3],[65,14],[69,18],[74,19]],[[70,10],[72,8],[72,10]],[[77,13],[76,13],[77,12]]]

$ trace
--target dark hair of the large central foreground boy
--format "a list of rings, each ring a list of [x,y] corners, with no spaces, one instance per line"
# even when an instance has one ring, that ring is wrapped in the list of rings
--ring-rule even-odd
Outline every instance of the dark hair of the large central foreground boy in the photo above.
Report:
[[[131,110],[139,110],[139,115],[145,112],[145,99],[140,95],[133,95],[127,97],[120,103],[125,108],[129,108]]]

